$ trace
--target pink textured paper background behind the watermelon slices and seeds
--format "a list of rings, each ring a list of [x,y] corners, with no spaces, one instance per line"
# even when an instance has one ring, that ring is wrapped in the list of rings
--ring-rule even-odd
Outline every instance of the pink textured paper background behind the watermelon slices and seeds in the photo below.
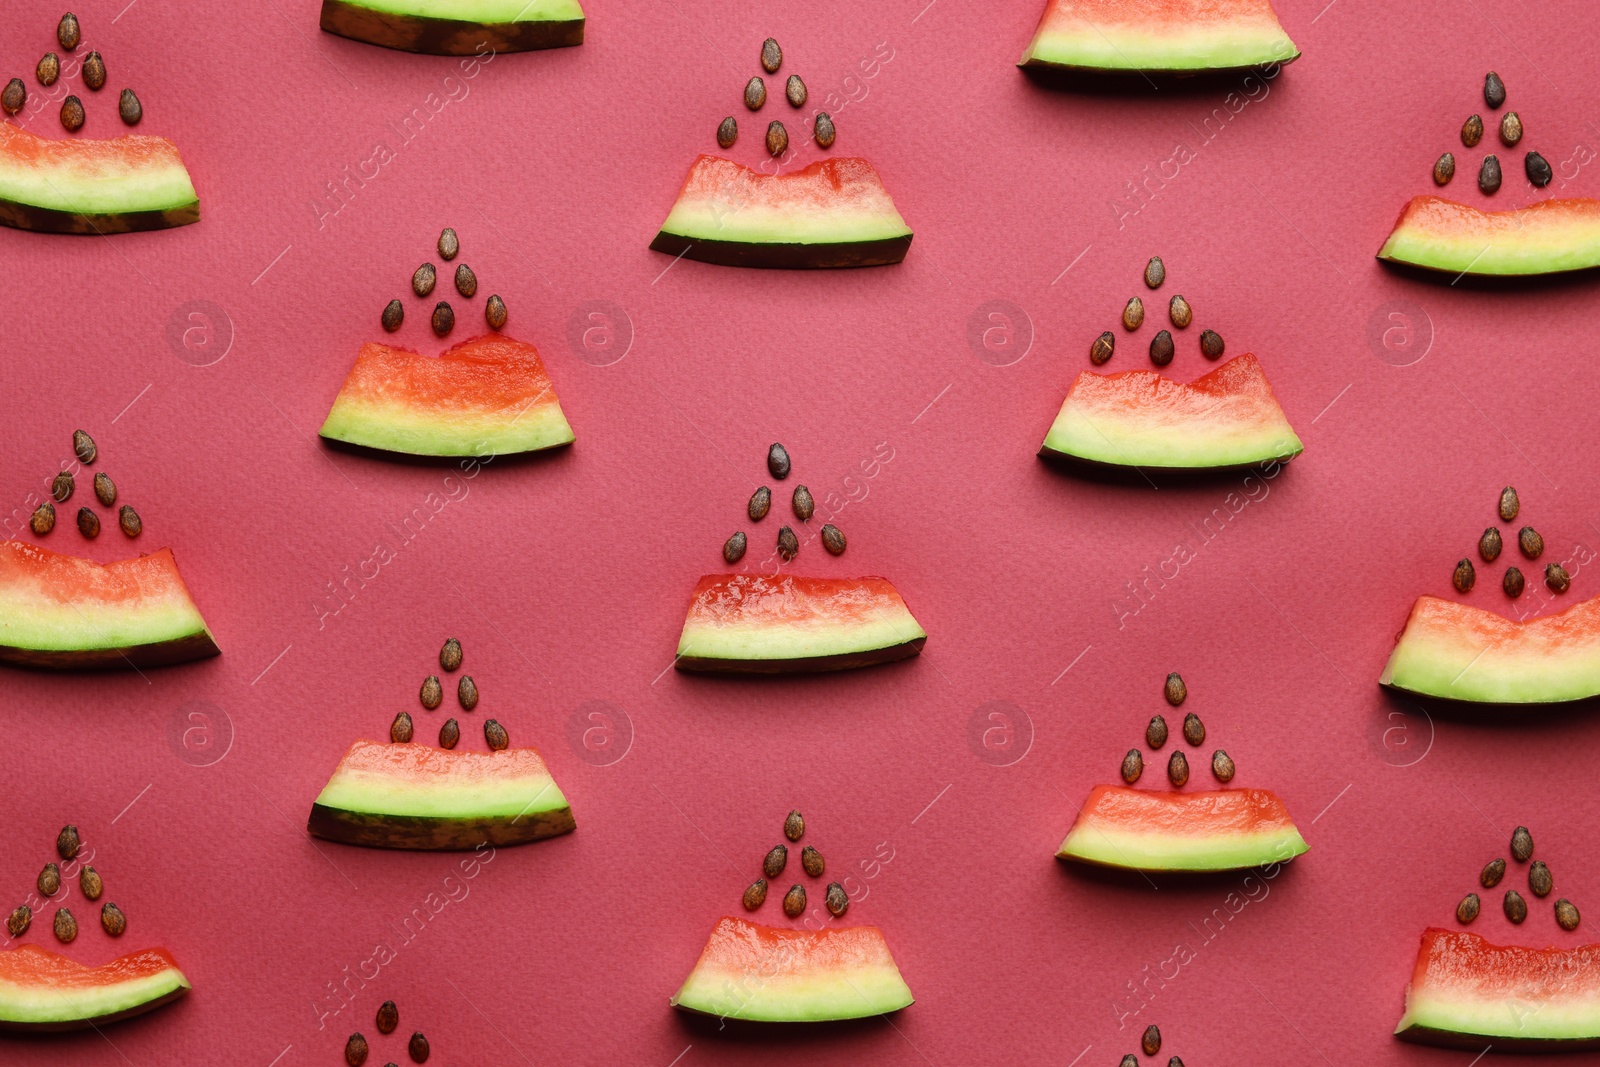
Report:
[[[104,93],[77,88],[85,134],[120,133],[114,94],[134,86],[141,131],[179,146],[203,219],[115,238],[0,230],[8,533],[72,430],[90,430],[144,536],[130,545],[107,523],[86,545],[64,509],[46,544],[98,560],[171,545],[222,656],[142,677],[3,670],[6,909],[72,821],[128,934],[112,944],[74,889],[70,953],[166,945],[195,989],[102,1035],[0,1038],[0,1057],[338,1064],[365,1030],[384,1064],[421,1029],[442,1064],[1094,1065],[1158,1022],[1158,1062],[1464,1062],[1389,1037],[1418,937],[1451,921],[1518,822],[1557,894],[1600,917],[1600,726],[1429,720],[1376,678],[1411,600],[1450,595],[1502,485],[1522,490],[1547,558],[1600,547],[1595,290],[1429,285],[1373,253],[1446,149],[1451,195],[1491,203],[1474,176],[1498,150],[1493,203],[1531,200],[1493,120],[1477,150],[1458,139],[1485,112],[1488,69],[1526,125],[1520,147],[1557,170],[1549,192],[1600,194],[1600,168],[1579,163],[1600,147],[1590,11],[1277,6],[1304,58],[1229,101],[1227,85],[1035,86],[1013,66],[1032,2],[594,0],[581,48],[498,56],[470,78],[318,32],[315,0],[75,3],[80,54],[99,48],[110,70]],[[0,74],[38,96],[54,10],[3,13]],[[741,90],[768,34],[786,61],[757,117]],[[754,272],[648,251],[723,115],[741,122],[731,155],[763,158],[765,122],[794,118],[790,72],[832,110],[835,154],[880,170],[917,232],[906,262]],[[29,128],[59,136],[58,106]],[[1178,146],[1192,158],[1174,166]],[[1130,182],[1144,198],[1114,206]],[[406,306],[398,339],[438,349],[408,280],[442,226],[480,285],[456,301],[453,339],[502,294],[507,331],[544,354],[571,450],[461,480],[317,442],[390,298]],[[1154,298],[1139,282],[1152,254],[1168,267]],[[1136,293],[1150,317],[1130,338],[1117,318]],[[1117,331],[1107,370],[1146,366],[1171,293],[1195,325],[1170,371],[1206,368],[1203,328],[1256,352],[1306,454],[1270,482],[1160,491],[1043,467],[1034,453],[1093,338]],[[795,474],[750,525],[773,440]],[[694,581],[738,528],[746,560],[765,558],[797,482],[822,514],[850,501],[834,518],[850,550],[808,544],[794,569],[888,576],[931,635],[925,654],[797,680],[670,670]],[[83,478],[74,506],[88,496]],[[398,541],[418,507],[421,531]],[[394,558],[328,598],[379,544]],[[1162,574],[1179,544],[1190,561],[1130,600],[1126,582]],[[1514,557],[1480,568],[1472,603],[1507,608]],[[1525,569],[1522,605],[1538,608]],[[1568,603],[1600,593],[1595,568],[1576,569]],[[307,840],[352,739],[381,737],[400,709],[435,734],[445,712],[414,694],[448,635],[483,693],[458,712],[462,744],[483,747],[490,715],[538,744],[578,832],[501,849],[470,880],[459,856]],[[1242,878],[1152,888],[1051,859],[1075,805],[1168,710],[1168,670],[1189,681],[1206,752],[1277,790],[1310,841],[1237,912]],[[986,747],[1006,725],[1013,747],[995,750],[1003,729]],[[790,808],[830,877],[854,878],[850,920],[883,928],[917,1003],[776,1037],[688,1024],[667,997]],[[1514,865],[1506,885],[1523,880]],[[763,918],[782,921],[787,883]],[[1563,934],[1549,901],[1530,902],[1514,931],[1490,896],[1475,929],[1594,937],[1592,918]],[[27,941],[53,944],[48,928],[46,913]],[[397,950],[371,976],[379,942]],[[1190,958],[1174,966],[1178,945]],[[402,1014],[387,1040],[373,1027],[386,998]]]

